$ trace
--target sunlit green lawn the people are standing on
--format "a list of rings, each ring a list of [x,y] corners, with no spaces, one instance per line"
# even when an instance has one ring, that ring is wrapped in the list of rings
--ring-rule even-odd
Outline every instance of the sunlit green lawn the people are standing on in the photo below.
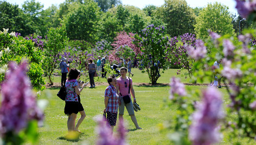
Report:
[[[149,78],[146,74],[140,73],[138,69],[132,69],[135,76],[132,77],[133,82],[148,83]],[[181,77],[183,83],[189,82],[181,75],[176,75],[176,70],[169,69],[159,78],[158,83],[169,83],[172,76]],[[100,78],[100,82],[105,82]],[[60,77],[55,77],[54,82],[60,82]],[[40,141],[39,144],[95,144],[97,134],[95,133],[94,117],[102,115],[104,110],[104,91],[106,85],[99,85],[93,89],[88,87],[81,93],[81,103],[86,112],[86,118],[80,126],[80,130],[84,133],[78,140],[67,141],[63,137],[67,134],[67,116],[63,113],[65,102],[56,96],[59,88],[46,89],[41,93],[40,99],[48,100],[49,104],[44,110],[44,126],[39,128]],[[187,89],[195,91],[206,88],[201,86],[186,86]],[[137,121],[142,130],[136,130],[130,116],[125,110],[124,118],[127,123],[127,143],[129,144],[171,144],[168,137],[161,134],[158,129],[158,124],[167,120],[171,120],[176,106],[168,107],[164,100],[168,99],[170,87],[167,85],[135,85],[135,94],[137,102],[142,110],[136,112]],[[224,88],[219,89],[223,94],[223,102],[227,104],[229,99]],[[193,96],[191,100],[195,99]],[[199,98],[196,98],[199,99]],[[189,100],[188,100],[189,101]],[[80,115],[78,115],[78,118]],[[78,120],[77,118],[77,120]],[[119,121],[117,120],[117,123]],[[116,129],[114,130],[114,132]],[[256,142],[247,139],[229,140],[225,135],[229,132],[224,132],[223,141],[220,144],[233,144],[235,141],[240,141],[245,144],[255,144]]]

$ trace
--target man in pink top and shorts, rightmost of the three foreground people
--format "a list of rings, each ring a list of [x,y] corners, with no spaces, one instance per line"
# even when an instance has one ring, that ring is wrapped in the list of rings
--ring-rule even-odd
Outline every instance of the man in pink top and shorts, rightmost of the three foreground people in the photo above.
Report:
[[[130,103],[124,103],[123,97],[126,95],[129,95],[130,100],[131,100],[131,95],[133,97],[133,102],[136,103],[136,98],[135,98],[135,91],[133,89],[132,85],[132,78],[127,77],[127,68],[121,67],[120,68],[120,74],[121,76],[117,79],[117,93],[119,93],[119,120],[123,120],[123,115],[124,115],[124,107],[128,111],[129,115],[131,116],[132,122],[135,124],[136,129],[142,129],[139,127],[135,113],[133,110],[133,104],[132,101]],[[129,90],[130,88],[130,90]],[[130,94],[131,92],[131,94]]]

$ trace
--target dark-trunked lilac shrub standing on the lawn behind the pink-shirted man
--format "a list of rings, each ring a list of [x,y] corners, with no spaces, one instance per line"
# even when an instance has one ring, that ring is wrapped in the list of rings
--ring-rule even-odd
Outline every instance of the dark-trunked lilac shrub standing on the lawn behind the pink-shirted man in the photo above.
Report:
[[[140,61],[139,68],[142,72],[149,75],[150,82],[156,84],[160,77],[160,69],[162,72],[167,69],[167,62],[165,60],[168,53],[169,38],[164,36],[164,27],[155,27],[148,25],[143,30],[143,35],[136,34],[133,42],[136,47],[140,48],[140,53],[137,55]]]

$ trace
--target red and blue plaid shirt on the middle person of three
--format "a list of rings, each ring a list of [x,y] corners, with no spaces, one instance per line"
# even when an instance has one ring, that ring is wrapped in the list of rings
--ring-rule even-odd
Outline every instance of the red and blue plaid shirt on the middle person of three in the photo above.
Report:
[[[105,97],[108,98],[106,112],[117,113],[118,111],[118,94],[113,85],[108,85],[105,90]]]

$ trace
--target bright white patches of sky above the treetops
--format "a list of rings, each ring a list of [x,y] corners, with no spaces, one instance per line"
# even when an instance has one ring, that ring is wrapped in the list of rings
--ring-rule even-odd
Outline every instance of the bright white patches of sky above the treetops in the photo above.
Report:
[[[6,0],[6,1],[12,4],[18,4],[20,8],[21,8],[21,5],[25,2],[25,0]],[[225,1],[224,0],[186,0],[186,1],[191,8],[206,7],[208,3],[219,2],[221,4],[228,6],[229,11],[232,14],[237,13],[235,9],[235,4],[236,4],[235,0],[225,0]],[[65,2],[65,0],[36,0],[36,2],[40,2],[41,4],[44,5],[43,9],[47,9],[52,4],[59,5],[60,3]],[[164,4],[164,0],[121,0],[121,2],[124,5],[137,6],[140,9],[145,8],[146,5],[161,6]]]

